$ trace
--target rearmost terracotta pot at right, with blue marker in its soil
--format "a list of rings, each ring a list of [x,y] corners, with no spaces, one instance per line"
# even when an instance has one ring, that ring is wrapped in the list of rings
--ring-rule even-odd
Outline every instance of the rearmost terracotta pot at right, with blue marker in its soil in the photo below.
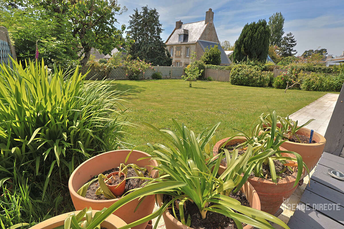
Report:
[[[281,124],[277,123],[277,126],[281,126]],[[311,130],[302,127],[296,133],[309,137]],[[303,162],[306,163],[309,171],[312,171],[316,163],[318,163],[319,159],[321,158],[321,154],[323,153],[326,144],[326,139],[321,134],[316,133],[315,131],[313,134],[313,140],[315,140],[316,143],[305,144],[292,141],[285,141],[282,143],[281,146],[289,151],[297,152],[298,154],[300,154]]]

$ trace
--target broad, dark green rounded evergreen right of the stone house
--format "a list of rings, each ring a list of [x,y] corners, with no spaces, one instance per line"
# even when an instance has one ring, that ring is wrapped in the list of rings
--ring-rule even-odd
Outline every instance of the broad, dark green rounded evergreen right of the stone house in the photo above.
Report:
[[[246,24],[234,46],[234,60],[252,60],[265,62],[269,52],[270,28],[266,20]]]

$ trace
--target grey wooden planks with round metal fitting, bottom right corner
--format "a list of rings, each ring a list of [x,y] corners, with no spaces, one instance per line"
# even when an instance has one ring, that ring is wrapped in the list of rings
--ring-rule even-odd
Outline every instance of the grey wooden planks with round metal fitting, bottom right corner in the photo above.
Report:
[[[291,229],[344,229],[344,181],[327,173],[344,172],[344,158],[324,152],[288,222]],[[331,209],[330,209],[331,208]]]

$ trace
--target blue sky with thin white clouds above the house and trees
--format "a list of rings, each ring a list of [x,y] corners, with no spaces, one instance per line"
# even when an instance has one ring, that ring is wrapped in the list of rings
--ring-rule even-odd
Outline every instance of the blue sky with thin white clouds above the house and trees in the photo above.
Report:
[[[164,29],[161,37],[166,40],[173,31],[175,21],[184,23],[201,21],[205,11],[212,8],[217,36],[222,41],[234,44],[246,23],[269,20],[275,12],[282,12],[284,32],[292,32],[297,41],[297,55],[304,50],[327,48],[329,54],[341,55],[344,51],[344,2],[343,0],[321,1],[160,1],[160,0],[119,0],[128,11],[118,16],[120,24],[128,25],[133,10],[144,5],[155,8],[160,14]]]

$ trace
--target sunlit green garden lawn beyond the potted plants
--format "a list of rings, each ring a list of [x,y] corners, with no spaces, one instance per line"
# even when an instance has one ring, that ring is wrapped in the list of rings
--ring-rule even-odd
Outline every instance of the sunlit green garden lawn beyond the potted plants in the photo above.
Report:
[[[129,90],[126,95],[128,121],[140,126],[125,127],[122,141],[132,145],[162,143],[163,138],[141,124],[148,122],[158,128],[173,128],[172,118],[184,123],[196,134],[205,127],[221,125],[216,140],[235,133],[233,128],[248,130],[263,112],[276,110],[287,116],[319,99],[327,92],[255,88],[228,82],[195,81],[192,88],[183,80],[109,81],[114,88]],[[130,135],[129,135],[130,134]],[[128,148],[132,146],[128,145]],[[150,151],[140,147],[138,149]]]

